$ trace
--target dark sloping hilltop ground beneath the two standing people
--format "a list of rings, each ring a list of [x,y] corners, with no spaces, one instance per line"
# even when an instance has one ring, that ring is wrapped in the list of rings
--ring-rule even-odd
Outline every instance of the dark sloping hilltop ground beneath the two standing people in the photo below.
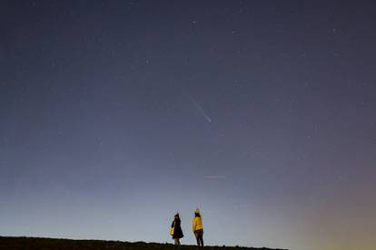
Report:
[[[197,250],[197,246],[172,244],[123,242],[104,240],[71,240],[36,237],[3,237],[0,236],[0,249],[7,250],[82,250],[82,249],[109,249],[109,250]],[[253,248],[241,246],[205,246],[207,250],[267,250],[270,248]],[[277,249],[275,249],[277,250]]]

